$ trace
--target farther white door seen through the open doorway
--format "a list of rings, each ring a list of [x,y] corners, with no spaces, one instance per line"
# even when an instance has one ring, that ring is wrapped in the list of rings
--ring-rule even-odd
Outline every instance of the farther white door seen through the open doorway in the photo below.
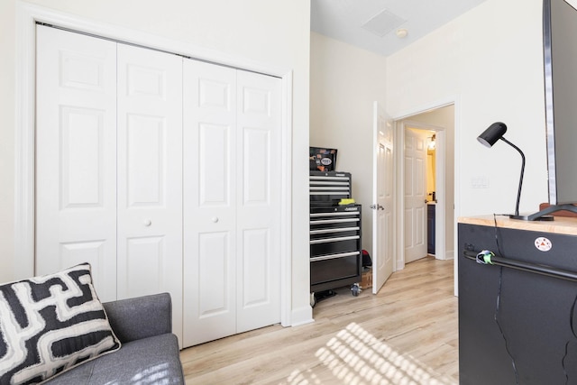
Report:
[[[426,257],[426,135],[405,130],[405,263]]]

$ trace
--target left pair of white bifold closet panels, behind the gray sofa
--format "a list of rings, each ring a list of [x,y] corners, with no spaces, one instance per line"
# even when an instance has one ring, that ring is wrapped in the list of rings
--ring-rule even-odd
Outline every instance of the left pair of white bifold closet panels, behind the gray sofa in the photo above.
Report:
[[[182,59],[38,26],[36,274],[169,291],[182,330]]]

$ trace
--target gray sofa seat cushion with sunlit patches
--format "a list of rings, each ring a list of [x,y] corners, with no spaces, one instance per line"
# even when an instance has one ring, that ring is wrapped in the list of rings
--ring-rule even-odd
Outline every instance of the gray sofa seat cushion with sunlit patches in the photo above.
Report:
[[[176,335],[154,335],[125,343],[119,351],[80,365],[45,385],[152,383],[184,383]]]

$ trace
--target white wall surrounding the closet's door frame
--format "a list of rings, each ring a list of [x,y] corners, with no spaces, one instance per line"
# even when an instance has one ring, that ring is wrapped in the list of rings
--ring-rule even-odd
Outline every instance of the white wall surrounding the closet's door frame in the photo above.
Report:
[[[292,309],[293,322],[312,316],[308,283],[308,0],[29,0],[96,23],[214,50],[261,66],[293,72]],[[15,5],[0,2],[0,281],[14,279]]]

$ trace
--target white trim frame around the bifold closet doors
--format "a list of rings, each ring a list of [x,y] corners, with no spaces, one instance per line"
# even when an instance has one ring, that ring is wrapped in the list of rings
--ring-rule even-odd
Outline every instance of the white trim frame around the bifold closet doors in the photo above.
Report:
[[[34,275],[35,239],[35,64],[36,23],[57,25],[75,32],[124,41],[147,48],[178,52],[198,60],[259,72],[281,79],[280,172],[280,323],[292,325],[292,70],[207,50],[78,15],[54,11],[39,5],[16,2],[15,77],[15,177],[14,177],[14,277]]]

